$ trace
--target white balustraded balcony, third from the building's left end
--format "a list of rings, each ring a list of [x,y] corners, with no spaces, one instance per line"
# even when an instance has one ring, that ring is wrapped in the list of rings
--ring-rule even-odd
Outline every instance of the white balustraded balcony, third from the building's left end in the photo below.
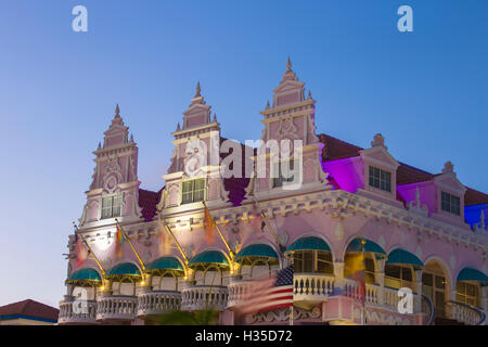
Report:
[[[162,314],[179,310],[181,293],[171,291],[145,292],[138,295],[138,317]]]

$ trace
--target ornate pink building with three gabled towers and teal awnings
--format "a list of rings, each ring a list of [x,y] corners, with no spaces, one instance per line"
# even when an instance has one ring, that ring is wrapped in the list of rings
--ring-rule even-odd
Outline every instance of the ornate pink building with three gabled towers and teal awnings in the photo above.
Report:
[[[488,195],[450,162],[436,174],[399,162],[380,133],[368,149],[318,133],[316,101],[286,67],[261,112],[264,151],[221,136],[198,85],[158,192],[140,189],[117,106],[79,219],[92,255],[77,266],[69,236],[60,324],[151,324],[208,307],[220,324],[288,324],[288,307],[237,308],[257,279],[291,264],[294,324],[486,324]],[[293,142],[288,157],[273,140]],[[222,237],[207,235],[203,202]],[[120,257],[116,220],[128,236]],[[358,255],[364,297],[351,278]]]

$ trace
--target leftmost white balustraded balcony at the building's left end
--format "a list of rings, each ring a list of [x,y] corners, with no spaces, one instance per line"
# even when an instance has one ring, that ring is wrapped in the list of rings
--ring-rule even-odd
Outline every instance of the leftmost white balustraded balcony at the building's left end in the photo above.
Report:
[[[98,324],[95,316],[95,300],[85,300],[78,304],[75,303],[75,298],[69,298],[60,303],[60,317],[57,319],[57,323],[60,325]]]

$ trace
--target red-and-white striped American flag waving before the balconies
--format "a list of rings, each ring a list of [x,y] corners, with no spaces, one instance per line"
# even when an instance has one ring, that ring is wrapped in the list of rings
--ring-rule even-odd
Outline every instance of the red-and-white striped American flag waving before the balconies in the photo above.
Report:
[[[293,265],[266,280],[253,281],[237,306],[241,314],[293,305]]]

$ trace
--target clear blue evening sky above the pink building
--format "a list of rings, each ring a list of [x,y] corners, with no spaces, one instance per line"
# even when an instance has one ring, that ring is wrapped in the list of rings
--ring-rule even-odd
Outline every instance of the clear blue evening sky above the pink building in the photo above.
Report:
[[[72,30],[77,4],[88,33]],[[402,4],[413,33],[397,30]],[[360,146],[382,132],[398,160],[451,160],[488,192],[487,21],[485,0],[0,2],[0,305],[62,299],[62,254],[116,103],[142,188],[158,190],[196,81],[224,137],[258,139],[288,55],[318,132]]]

